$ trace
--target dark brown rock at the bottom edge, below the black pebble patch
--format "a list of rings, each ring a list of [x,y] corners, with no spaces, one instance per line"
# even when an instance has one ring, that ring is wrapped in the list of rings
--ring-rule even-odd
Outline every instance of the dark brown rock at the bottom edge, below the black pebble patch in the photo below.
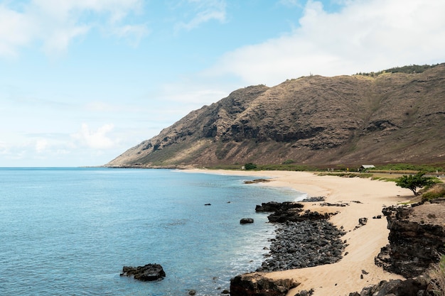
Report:
[[[291,279],[272,280],[261,273],[237,275],[230,280],[230,296],[284,296],[298,285]]]

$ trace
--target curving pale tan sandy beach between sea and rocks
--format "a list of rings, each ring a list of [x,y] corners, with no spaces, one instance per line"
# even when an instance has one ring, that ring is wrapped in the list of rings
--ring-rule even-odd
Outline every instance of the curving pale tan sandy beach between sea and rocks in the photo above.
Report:
[[[381,280],[403,279],[400,275],[385,272],[374,263],[380,248],[388,243],[389,230],[385,216],[382,219],[372,219],[372,217],[381,215],[383,207],[406,202],[412,198],[409,190],[397,187],[394,182],[358,177],[318,176],[311,172],[188,171],[270,177],[272,181],[262,185],[289,187],[307,193],[308,197],[324,196],[326,202],[331,204],[348,204],[346,207],[321,207],[319,203],[305,204],[304,209],[311,211],[338,212],[329,221],[338,228],[343,226],[347,234],[342,240],[347,241],[348,246],[343,253],[343,259],[338,263],[267,273],[269,278],[293,278],[301,283],[290,290],[288,296],[311,289],[314,290],[314,296],[348,296],[350,292],[360,292],[363,287],[377,284]],[[368,223],[355,229],[359,224],[358,219],[364,217],[368,218]]]

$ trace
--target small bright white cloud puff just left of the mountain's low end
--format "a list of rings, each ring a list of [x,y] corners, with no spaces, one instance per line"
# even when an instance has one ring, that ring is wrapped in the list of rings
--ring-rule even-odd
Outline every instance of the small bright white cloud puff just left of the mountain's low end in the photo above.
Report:
[[[87,146],[93,149],[109,149],[114,148],[115,141],[113,141],[107,134],[114,128],[113,124],[104,124],[97,131],[90,129],[87,124],[82,124],[80,131],[73,133],[72,138],[80,143],[82,146]]]

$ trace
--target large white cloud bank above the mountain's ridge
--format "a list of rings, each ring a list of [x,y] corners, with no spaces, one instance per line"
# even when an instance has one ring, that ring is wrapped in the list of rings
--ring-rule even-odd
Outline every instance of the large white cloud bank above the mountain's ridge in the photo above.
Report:
[[[336,13],[307,1],[289,35],[225,54],[207,75],[278,84],[303,75],[350,75],[444,62],[445,1],[347,1]]]

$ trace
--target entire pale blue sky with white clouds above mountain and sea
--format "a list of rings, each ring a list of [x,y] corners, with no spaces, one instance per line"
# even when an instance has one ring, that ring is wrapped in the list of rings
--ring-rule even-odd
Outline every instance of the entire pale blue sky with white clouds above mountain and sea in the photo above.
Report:
[[[0,0],[0,167],[104,165],[250,85],[445,62],[444,0]]]

